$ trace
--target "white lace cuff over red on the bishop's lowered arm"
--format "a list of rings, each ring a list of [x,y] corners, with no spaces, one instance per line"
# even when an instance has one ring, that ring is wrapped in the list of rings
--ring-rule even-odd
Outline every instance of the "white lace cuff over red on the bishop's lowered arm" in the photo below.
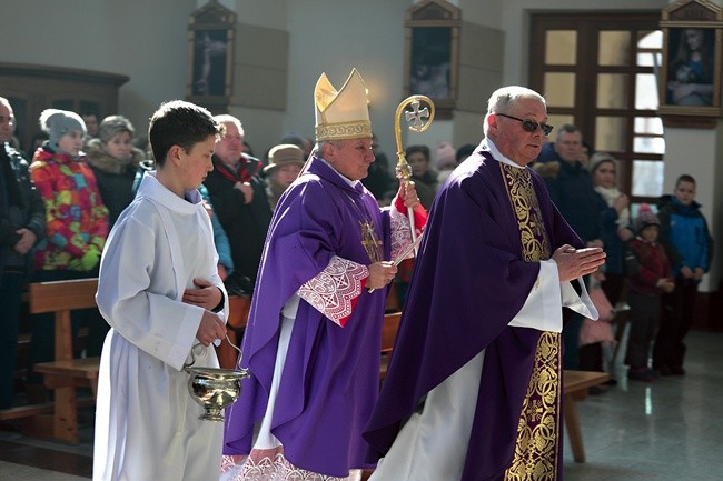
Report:
[[[361,293],[361,281],[368,277],[366,265],[334,255],[326,269],[299,288],[298,294],[314,309],[343,325],[341,321],[351,315],[354,299]]]

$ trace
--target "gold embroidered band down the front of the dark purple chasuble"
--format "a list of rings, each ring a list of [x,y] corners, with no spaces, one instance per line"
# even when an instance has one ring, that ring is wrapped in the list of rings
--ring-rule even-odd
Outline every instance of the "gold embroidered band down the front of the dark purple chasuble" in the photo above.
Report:
[[[523,259],[549,259],[552,248],[528,169],[499,162],[509,201],[519,226]],[[562,341],[557,332],[543,332],[519,414],[517,442],[506,481],[554,481],[562,440]]]

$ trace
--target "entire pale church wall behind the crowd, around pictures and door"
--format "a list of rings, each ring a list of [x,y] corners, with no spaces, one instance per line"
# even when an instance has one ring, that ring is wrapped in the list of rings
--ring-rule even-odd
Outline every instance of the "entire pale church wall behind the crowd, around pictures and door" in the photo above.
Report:
[[[313,89],[321,72],[340,87],[357,67],[369,88],[370,114],[380,146],[394,158],[394,111],[404,80],[404,13],[410,0],[328,2],[324,0],[219,0],[237,13],[235,62],[238,114],[261,154],[283,133],[314,136]],[[120,88],[120,113],[137,131],[164,100],[186,93],[188,17],[204,0],[43,0],[3,3],[0,58],[3,62],[69,67],[130,77]],[[455,0],[463,9],[459,107],[452,121],[438,121],[405,144],[482,137],[484,102],[502,84],[527,79],[529,13],[534,11],[661,10],[666,0]],[[720,1],[716,0],[720,4]],[[288,42],[287,46],[285,43]],[[286,68],[284,67],[286,63]],[[245,83],[246,82],[246,83]],[[699,179],[699,200],[716,238],[723,239],[723,169],[716,167],[721,128],[668,129],[665,190],[677,174]],[[408,137],[408,136],[407,136]],[[691,139],[695,138],[695,142]],[[472,140],[471,140],[472,139]],[[694,159],[694,162],[691,161]],[[720,243],[720,242],[719,242]],[[723,269],[719,255],[711,280]]]

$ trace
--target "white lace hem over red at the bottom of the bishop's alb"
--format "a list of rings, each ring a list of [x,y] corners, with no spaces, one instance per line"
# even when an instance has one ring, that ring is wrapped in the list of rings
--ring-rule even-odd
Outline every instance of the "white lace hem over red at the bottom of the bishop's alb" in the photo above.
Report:
[[[221,459],[219,481],[355,481],[361,478],[361,470],[351,470],[348,477],[329,477],[288,462],[284,448],[255,449],[251,454],[225,455]]]

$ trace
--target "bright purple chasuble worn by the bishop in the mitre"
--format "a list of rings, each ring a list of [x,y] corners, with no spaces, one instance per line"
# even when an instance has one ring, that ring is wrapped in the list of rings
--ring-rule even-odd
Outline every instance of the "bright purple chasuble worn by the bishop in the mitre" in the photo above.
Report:
[[[334,255],[368,265],[361,224],[372,222],[389,259],[389,213],[366,189],[355,190],[324,161],[279,199],[261,257],[241,367],[239,400],[227,409],[225,454],[248,454],[254,424],[266,411],[278,348],[280,312],[299,287]],[[271,432],[296,467],[335,477],[369,468],[361,430],[377,399],[387,289],[363,289],[344,328],[299,302],[273,413]]]

